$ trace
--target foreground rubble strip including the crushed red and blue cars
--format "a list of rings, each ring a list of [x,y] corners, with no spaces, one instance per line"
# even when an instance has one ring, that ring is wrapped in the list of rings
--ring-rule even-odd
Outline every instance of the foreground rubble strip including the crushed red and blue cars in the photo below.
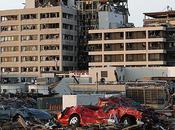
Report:
[[[174,130],[174,120],[125,97],[68,107],[56,117],[31,97],[0,96],[0,130]]]

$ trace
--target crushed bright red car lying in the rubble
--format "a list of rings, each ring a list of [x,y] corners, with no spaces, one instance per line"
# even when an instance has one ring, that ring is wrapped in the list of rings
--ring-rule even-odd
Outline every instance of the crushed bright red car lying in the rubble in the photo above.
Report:
[[[100,98],[96,106],[72,106],[58,114],[58,122],[64,126],[119,123],[127,127],[139,122],[155,123],[157,121],[154,110],[124,97]]]

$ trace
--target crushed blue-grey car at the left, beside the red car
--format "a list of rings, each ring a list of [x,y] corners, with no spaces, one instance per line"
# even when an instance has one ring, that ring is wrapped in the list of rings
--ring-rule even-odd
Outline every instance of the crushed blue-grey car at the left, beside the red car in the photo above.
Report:
[[[46,124],[52,117],[49,113],[26,107],[20,101],[2,101],[0,103],[0,122],[18,121],[19,118],[24,119],[27,125]]]

